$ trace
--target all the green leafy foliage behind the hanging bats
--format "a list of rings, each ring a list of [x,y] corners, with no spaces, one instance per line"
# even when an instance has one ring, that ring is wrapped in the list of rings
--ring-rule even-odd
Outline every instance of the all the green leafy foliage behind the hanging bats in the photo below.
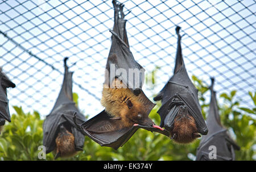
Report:
[[[207,114],[209,103],[206,101],[208,85],[192,76],[193,83],[199,89],[199,101],[203,115]],[[236,91],[220,94],[223,101],[220,108],[222,124],[229,129],[241,151],[236,151],[237,160],[253,160],[256,145],[256,93],[249,92],[254,102],[253,108],[244,108],[240,102],[234,101]],[[77,104],[78,96],[74,94]],[[156,124],[160,123],[157,114],[160,102],[150,113],[150,118]],[[43,119],[37,111],[24,113],[22,108],[14,106],[15,114],[11,115],[11,123],[6,123],[0,136],[0,158],[2,160],[39,160],[38,147],[43,145]],[[84,151],[76,156],[57,160],[195,160],[196,148],[200,139],[188,145],[176,144],[168,137],[139,129],[122,148],[115,151],[112,148],[100,147],[97,143],[85,137]],[[53,153],[46,160],[53,160]]]

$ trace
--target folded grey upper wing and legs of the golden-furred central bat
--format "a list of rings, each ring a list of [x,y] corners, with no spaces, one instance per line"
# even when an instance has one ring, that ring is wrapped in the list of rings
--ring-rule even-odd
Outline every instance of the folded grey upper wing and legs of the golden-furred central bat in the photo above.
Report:
[[[108,77],[105,77],[105,84],[110,84],[115,78],[122,80],[127,88],[138,96],[142,90],[144,81],[144,68],[137,63],[129,49],[129,42],[126,32],[126,21],[123,19],[123,5],[113,1],[114,5],[114,27],[112,33],[112,45],[109,51],[109,57],[106,64]],[[121,17],[120,17],[121,15]],[[135,75],[129,75],[129,72],[134,72]],[[130,77],[129,77],[130,76]],[[139,78],[139,79],[138,79]]]

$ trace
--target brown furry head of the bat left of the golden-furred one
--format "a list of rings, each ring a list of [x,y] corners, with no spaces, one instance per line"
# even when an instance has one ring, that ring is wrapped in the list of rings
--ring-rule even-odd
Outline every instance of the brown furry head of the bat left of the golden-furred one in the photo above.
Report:
[[[56,154],[59,153],[60,157],[71,157],[77,153],[75,150],[75,137],[68,130],[65,130],[65,132],[59,132],[55,142]]]

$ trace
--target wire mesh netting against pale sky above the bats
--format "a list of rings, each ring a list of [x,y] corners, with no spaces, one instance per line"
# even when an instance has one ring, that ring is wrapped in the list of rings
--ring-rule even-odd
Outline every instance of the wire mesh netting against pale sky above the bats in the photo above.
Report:
[[[159,67],[155,85],[144,84],[148,97],[172,76],[175,27],[181,27],[189,76],[210,83],[218,93],[236,89],[251,106],[256,88],[256,3],[246,1],[120,1],[127,14],[130,49],[146,72]],[[79,108],[96,115],[114,20],[112,1],[0,1],[0,66],[16,88],[10,107],[47,115],[63,81],[63,59],[73,74]],[[13,113],[13,108],[10,108]]]

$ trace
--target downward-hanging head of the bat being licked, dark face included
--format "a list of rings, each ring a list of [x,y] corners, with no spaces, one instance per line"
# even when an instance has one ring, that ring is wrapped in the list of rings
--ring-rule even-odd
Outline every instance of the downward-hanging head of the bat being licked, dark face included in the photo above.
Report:
[[[195,118],[188,113],[185,105],[180,106],[173,125],[171,127],[167,125],[166,130],[170,131],[171,139],[181,144],[190,143],[200,137],[197,132]]]

